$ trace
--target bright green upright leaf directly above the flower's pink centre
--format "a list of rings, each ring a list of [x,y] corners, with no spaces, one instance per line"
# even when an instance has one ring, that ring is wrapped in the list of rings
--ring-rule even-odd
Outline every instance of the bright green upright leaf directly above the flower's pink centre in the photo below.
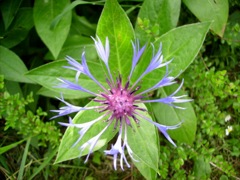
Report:
[[[113,73],[120,73],[127,80],[131,67],[134,31],[130,20],[116,0],[107,0],[98,22],[97,35],[104,42],[110,41],[109,66]]]

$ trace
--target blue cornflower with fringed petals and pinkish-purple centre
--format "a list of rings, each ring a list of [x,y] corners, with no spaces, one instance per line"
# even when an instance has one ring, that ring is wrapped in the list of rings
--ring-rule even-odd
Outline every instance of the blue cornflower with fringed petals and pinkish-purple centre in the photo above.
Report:
[[[132,77],[132,74],[134,72],[134,69],[141,58],[142,54],[144,53],[146,46],[140,47],[139,41],[132,42],[133,47],[133,58],[132,58],[132,67],[130,70],[130,74],[128,76],[128,81],[123,84],[121,75],[117,77],[116,82],[113,80],[111,70],[109,68],[108,62],[109,62],[109,54],[110,54],[110,46],[109,46],[109,40],[106,38],[105,45],[101,42],[99,37],[94,39],[95,48],[98,53],[99,58],[104,62],[107,73],[109,76],[109,79],[106,79],[106,82],[109,87],[104,87],[90,72],[85,52],[82,53],[82,63],[76,61],[75,59],[71,57],[67,57],[67,61],[70,66],[65,66],[64,68],[68,68],[71,70],[76,71],[75,81],[76,82],[70,82],[65,79],[59,79],[61,81],[61,84],[58,86],[60,88],[67,88],[72,90],[78,90],[82,92],[89,93],[91,96],[94,96],[95,98],[93,101],[99,103],[97,106],[93,107],[78,107],[75,105],[72,105],[68,102],[66,102],[63,97],[58,98],[61,102],[63,102],[66,106],[60,108],[59,110],[53,110],[54,112],[57,112],[58,115],[54,116],[53,118],[68,115],[73,112],[79,112],[79,111],[86,111],[86,110],[97,110],[100,114],[100,116],[97,119],[91,120],[86,123],[82,124],[74,124],[72,122],[72,119],[69,118],[69,123],[60,123],[63,126],[67,127],[75,127],[79,129],[79,138],[75,142],[75,145],[78,144],[78,142],[82,139],[82,137],[85,135],[85,133],[97,122],[103,121],[106,123],[105,128],[102,129],[102,131],[97,134],[96,136],[92,137],[90,140],[85,142],[81,147],[80,151],[82,152],[85,148],[89,147],[89,152],[87,155],[87,158],[85,162],[87,162],[89,155],[93,152],[93,149],[95,145],[97,144],[98,140],[100,139],[101,135],[106,131],[106,129],[114,123],[114,128],[116,129],[119,124],[119,133],[117,137],[117,141],[114,145],[111,146],[110,150],[105,150],[106,155],[112,155],[113,156],[113,166],[114,169],[117,169],[117,158],[118,155],[120,156],[120,167],[123,170],[123,162],[127,165],[127,167],[130,167],[130,164],[127,161],[125,150],[128,153],[128,155],[131,157],[132,160],[138,161],[137,159],[134,159],[134,152],[132,151],[131,147],[128,144],[127,140],[127,126],[132,127],[131,123],[132,121],[130,119],[133,119],[135,123],[139,123],[139,118],[144,119],[148,121],[149,123],[156,126],[159,131],[162,132],[162,134],[167,138],[167,140],[176,146],[176,144],[173,142],[171,137],[168,135],[167,130],[169,129],[176,129],[178,128],[181,123],[174,125],[174,126],[165,126],[162,124],[159,124],[157,122],[152,121],[148,117],[144,116],[143,113],[140,113],[141,111],[147,111],[147,109],[139,107],[140,103],[152,103],[152,102],[159,102],[164,103],[170,106],[173,106],[175,108],[183,109],[180,106],[176,106],[175,103],[184,103],[189,102],[191,99],[184,99],[185,95],[183,96],[175,96],[176,93],[181,89],[183,85],[183,81],[179,88],[172,93],[171,95],[160,98],[160,99],[153,99],[149,100],[144,96],[144,94],[156,90],[158,88],[164,87],[164,86],[170,86],[174,83],[176,83],[175,78],[170,76],[170,72],[168,71],[168,64],[171,63],[172,60],[163,62],[163,55],[162,55],[162,44],[160,44],[160,47],[157,51],[157,53],[154,53],[154,45],[153,47],[153,56],[152,59],[147,66],[146,70],[139,76],[139,78],[131,85],[130,80]],[[159,80],[155,85],[153,85],[151,88],[143,90],[142,92],[138,93],[138,90],[140,89],[140,86],[138,86],[139,82],[142,80],[142,78],[147,75],[148,73],[152,72],[155,69],[166,67],[166,73],[162,79]],[[81,74],[85,74],[90,79],[92,79],[93,82],[95,82],[99,88],[99,93],[92,92],[88,89],[85,89],[81,85],[79,85],[78,79]]]

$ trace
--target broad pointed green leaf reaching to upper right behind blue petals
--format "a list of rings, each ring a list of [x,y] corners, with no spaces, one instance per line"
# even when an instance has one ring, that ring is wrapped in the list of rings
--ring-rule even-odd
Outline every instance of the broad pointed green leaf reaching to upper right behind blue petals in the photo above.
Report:
[[[154,42],[155,53],[160,43],[162,43],[164,61],[173,59],[168,65],[171,76],[180,75],[193,62],[202,47],[209,26],[210,22],[181,26],[170,30]],[[152,47],[149,46],[133,73],[133,80],[137,79],[149,65],[152,51]],[[148,74],[142,80],[140,91],[152,87],[160,81],[164,73],[165,68],[160,68]]]

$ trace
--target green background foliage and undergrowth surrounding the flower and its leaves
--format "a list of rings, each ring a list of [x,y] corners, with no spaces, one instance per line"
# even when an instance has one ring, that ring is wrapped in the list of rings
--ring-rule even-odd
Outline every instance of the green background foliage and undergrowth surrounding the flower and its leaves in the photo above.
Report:
[[[135,25],[143,2],[119,3]],[[55,4],[54,18],[67,4],[64,0]],[[65,130],[57,124],[63,118],[49,120],[53,116],[49,110],[59,107],[52,98],[58,93],[24,75],[66,55],[79,58],[84,47],[91,52],[89,58],[96,58],[89,36],[95,36],[103,5],[104,1],[74,1],[75,8],[64,14],[64,19],[72,19],[71,26],[62,23],[58,39],[52,39],[51,33],[44,39],[39,32],[49,27],[45,26],[47,14],[41,14],[47,7],[41,1],[0,2],[0,179],[144,179],[134,166],[124,172],[114,171],[112,159],[102,150],[95,152],[87,164],[81,158],[54,164]],[[200,53],[180,77],[185,79],[184,90],[194,99],[194,143],[178,143],[174,149],[160,138],[159,179],[240,179],[240,2],[230,0],[228,6],[225,31],[212,29],[207,34]],[[178,26],[201,20],[192,13],[193,8],[187,1],[181,3]],[[54,26],[56,21],[51,20],[50,24]],[[148,20],[138,23],[149,35],[146,39],[164,33]],[[59,46],[58,41],[68,28],[71,36]],[[82,105],[87,101],[72,100]]]

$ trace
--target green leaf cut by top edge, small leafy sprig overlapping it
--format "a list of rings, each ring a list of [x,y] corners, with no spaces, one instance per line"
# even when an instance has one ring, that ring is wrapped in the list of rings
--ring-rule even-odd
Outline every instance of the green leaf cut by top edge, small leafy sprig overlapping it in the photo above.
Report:
[[[135,29],[138,39],[145,43],[175,28],[180,7],[180,0],[145,0]]]

